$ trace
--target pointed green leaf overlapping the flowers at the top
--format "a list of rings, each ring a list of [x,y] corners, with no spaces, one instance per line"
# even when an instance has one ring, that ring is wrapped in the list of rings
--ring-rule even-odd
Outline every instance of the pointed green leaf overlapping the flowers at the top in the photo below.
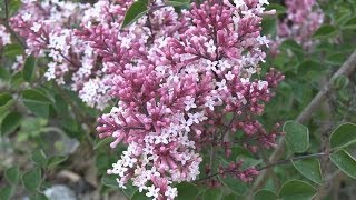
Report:
[[[147,12],[148,12],[148,9],[146,3],[141,1],[134,2],[131,7],[126,11],[121,28],[123,29],[130,26]]]

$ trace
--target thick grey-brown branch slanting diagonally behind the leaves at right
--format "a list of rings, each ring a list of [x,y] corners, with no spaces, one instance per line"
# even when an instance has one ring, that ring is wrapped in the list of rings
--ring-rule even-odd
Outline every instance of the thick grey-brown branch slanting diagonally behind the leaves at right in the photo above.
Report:
[[[314,97],[310,103],[301,111],[296,121],[298,123],[307,122],[313,113],[318,109],[323,101],[327,98],[327,94],[333,90],[333,82],[340,76],[349,76],[356,68],[356,50],[348,57],[344,64],[334,73],[332,79],[324,86],[324,88]],[[269,161],[273,163],[278,160],[285,152],[285,140],[279,140],[278,147],[269,157]],[[267,172],[260,173],[258,179],[255,181],[250,193],[254,193],[267,182]]]

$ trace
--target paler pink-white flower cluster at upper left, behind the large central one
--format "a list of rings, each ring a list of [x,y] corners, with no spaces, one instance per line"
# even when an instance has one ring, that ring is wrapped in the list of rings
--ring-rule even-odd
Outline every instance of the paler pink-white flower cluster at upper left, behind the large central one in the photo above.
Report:
[[[70,84],[73,91],[91,107],[103,109],[108,106],[109,79],[102,71],[101,58],[90,46],[75,34],[88,18],[90,4],[59,0],[22,0],[17,16],[10,19],[11,27],[26,40],[26,53],[47,57],[44,77],[58,84]],[[16,67],[20,68],[23,57],[18,56]]]

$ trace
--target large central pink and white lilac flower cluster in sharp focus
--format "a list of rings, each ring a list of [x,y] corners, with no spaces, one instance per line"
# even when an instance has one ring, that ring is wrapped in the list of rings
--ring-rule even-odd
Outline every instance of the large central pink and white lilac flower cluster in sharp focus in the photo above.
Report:
[[[274,69],[260,79],[269,43],[260,23],[268,1],[209,0],[177,13],[156,0],[147,14],[120,29],[131,3],[97,2],[76,34],[102,58],[110,77],[105,86],[119,100],[97,128],[100,138],[113,138],[112,148],[128,146],[108,170],[119,186],[130,181],[147,197],[174,199],[171,183],[196,180],[199,152],[233,142],[226,136],[243,130],[245,138],[275,147],[279,132],[268,133],[257,120],[284,79]],[[228,123],[227,116],[233,116]],[[256,152],[256,146],[243,147]],[[234,174],[249,181],[257,171]]]

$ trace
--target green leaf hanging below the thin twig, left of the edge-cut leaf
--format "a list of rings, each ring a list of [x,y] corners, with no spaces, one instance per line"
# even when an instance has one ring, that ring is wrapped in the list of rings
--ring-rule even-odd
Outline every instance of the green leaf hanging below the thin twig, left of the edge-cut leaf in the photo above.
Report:
[[[291,161],[293,166],[310,181],[323,184],[320,162],[318,159]]]

